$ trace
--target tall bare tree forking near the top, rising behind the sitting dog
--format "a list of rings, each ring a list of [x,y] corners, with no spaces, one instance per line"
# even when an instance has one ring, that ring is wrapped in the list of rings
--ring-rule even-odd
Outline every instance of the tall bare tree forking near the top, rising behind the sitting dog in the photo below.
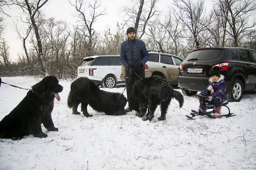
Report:
[[[34,0],[32,2],[29,2],[28,0],[11,0],[11,1],[13,4],[18,5],[30,18],[30,24],[32,25],[35,36],[36,36],[38,59],[41,65],[41,69],[44,75],[48,75],[47,66],[44,61],[42,41],[40,38],[38,25],[37,25],[37,15],[38,13],[40,13],[39,9],[42,8],[48,0],[44,0],[43,2],[41,2],[41,0]]]

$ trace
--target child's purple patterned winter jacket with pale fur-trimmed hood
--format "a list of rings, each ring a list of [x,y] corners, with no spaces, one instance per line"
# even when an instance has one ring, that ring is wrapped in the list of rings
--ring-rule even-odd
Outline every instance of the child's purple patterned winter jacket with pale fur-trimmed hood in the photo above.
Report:
[[[222,105],[222,103],[227,100],[224,76],[220,75],[220,78],[217,80],[217,82],[214,82],[212,78],[210,78],[207,88],[201,92],[200,95],[212,96],[212,98],[217,97],[220,99],[220,104]]]

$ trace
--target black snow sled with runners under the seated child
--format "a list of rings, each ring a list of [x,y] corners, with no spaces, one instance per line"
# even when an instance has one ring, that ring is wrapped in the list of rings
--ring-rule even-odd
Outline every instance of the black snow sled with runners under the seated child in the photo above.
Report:
[[[198,111],[191,110],[191,113],[190,113],[191,116],[186,115],[186,117],[193,120],[203,118],[204,116],[208,116],[209,118],[216,119],[216,117],[213,117],[213,114],[215,113],[214,105],[212,103],[205,103],[205,99],[207,98],[206,96],[198,95],[198,97],[200,98],[200,105],[199,105]],[[223,102],[222,107],[224,106],[228,108],[228,114],[221,115],[219,118],[235,116],[233,115],[233,113],[230,113],[230,109],[227,106],[227,104],[228,104],[228,101]],[[212,109],[212,111],[202,113],[201,107],[203,107],[205,110]]]

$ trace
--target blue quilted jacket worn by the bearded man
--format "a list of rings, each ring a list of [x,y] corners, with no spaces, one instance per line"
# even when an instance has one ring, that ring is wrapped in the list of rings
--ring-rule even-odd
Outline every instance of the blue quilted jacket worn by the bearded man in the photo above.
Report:
[[[143,66],[138,69],[143,69],[148,58],[149,54],[144,41],[135,38],[133,42],[130,42],[128,39],[122,42],[120,47],[120,61],[125,69],[128,65],[133,68],[139,63],[142,63]]]

